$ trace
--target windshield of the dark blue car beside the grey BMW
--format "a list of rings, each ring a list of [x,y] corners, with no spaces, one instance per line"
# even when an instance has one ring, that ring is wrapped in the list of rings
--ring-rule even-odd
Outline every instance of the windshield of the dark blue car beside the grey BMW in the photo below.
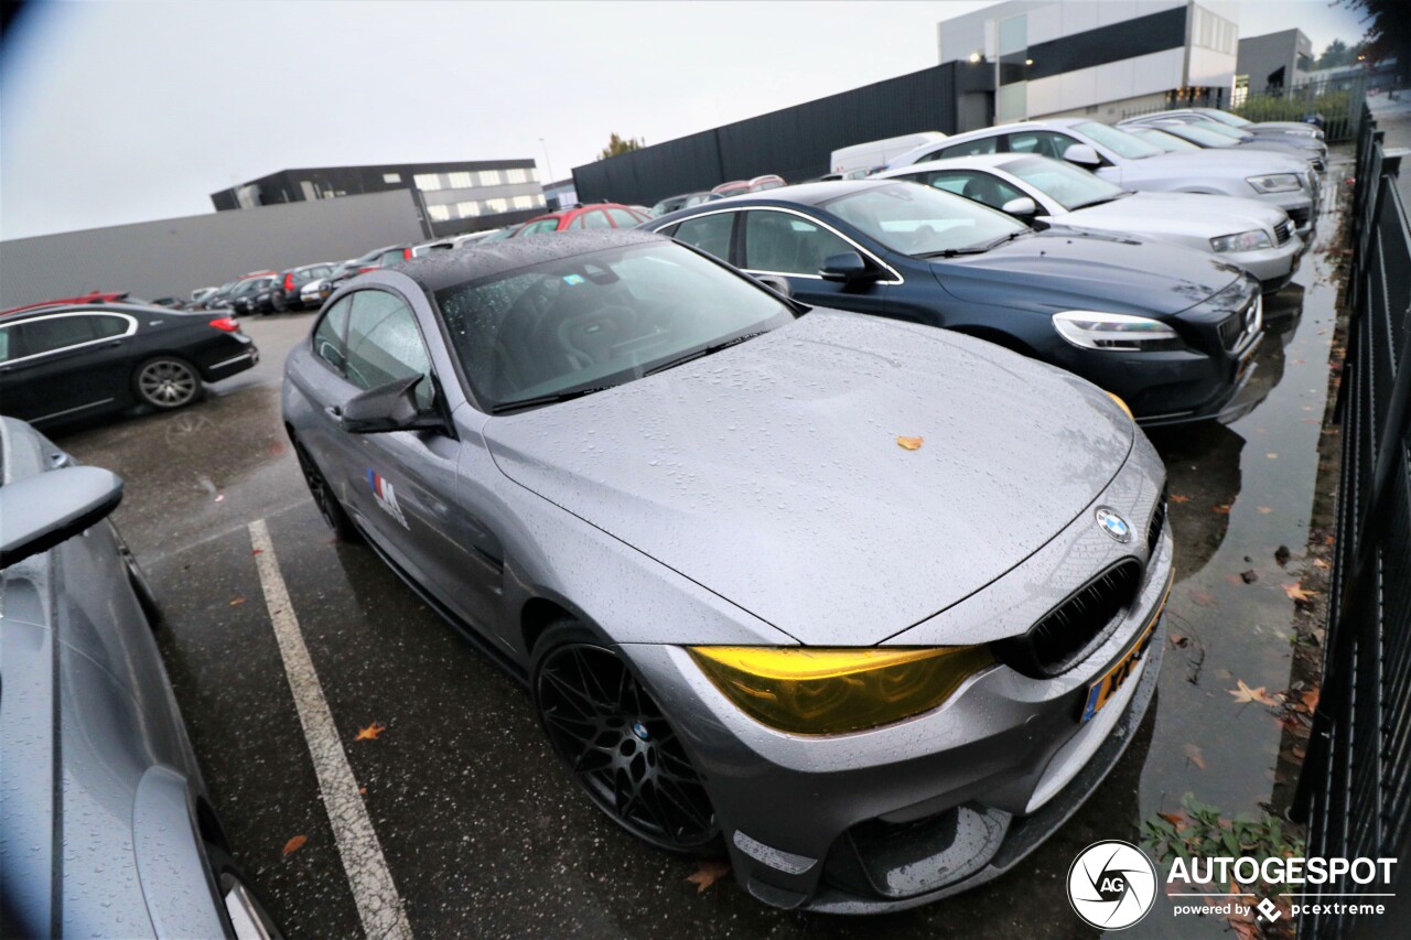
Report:
[[[1002,212],[913,182],[862,189],[821,205],[888,248],[917,257],[983,248],[1029,231]]]

